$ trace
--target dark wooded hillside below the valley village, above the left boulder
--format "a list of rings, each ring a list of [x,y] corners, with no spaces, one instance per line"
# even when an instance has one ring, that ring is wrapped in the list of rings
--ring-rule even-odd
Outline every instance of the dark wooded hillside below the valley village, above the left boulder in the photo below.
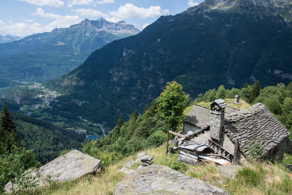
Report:
[[[59,156],[61,150],[78,149],[84,142],[84,134],[18,112],[12,112],[11,115],[22,147],[32,149],[40,162],[52,161]]]

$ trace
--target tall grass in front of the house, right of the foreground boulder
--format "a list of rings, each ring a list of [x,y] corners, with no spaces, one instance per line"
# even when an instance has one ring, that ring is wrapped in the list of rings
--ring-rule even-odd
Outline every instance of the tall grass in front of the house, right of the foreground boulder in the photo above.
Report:
[[[292,194],[292,174],[278,163],[248,163],[237,172],[234,179],[220,175],[215,163],[193,166],[188,174],[191,177],[210,182],[234,195]],[[222,184],[218,182],[219,180],[223,181]]]

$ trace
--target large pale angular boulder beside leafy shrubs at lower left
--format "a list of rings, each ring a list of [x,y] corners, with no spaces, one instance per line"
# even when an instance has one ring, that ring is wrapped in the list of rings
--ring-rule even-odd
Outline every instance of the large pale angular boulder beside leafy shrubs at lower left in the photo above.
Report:
[[[48,185],[46,175],[51,175],[51,180],[64,182],[75,180],[83,175],[100,173],[103,170],[100,160],[78,150],[72,150],[33,171],[32,175],[37,176],[38,187],[43,187]],[[4,190],[9,193],[11,188],[12,184],[8,182]]]

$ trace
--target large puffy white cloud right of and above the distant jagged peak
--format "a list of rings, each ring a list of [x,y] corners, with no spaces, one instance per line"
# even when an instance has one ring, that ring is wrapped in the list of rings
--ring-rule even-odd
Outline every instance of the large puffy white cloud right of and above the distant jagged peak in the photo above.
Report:
[[[168,9],[161,9],[160,6],[150,6],[150,8],[136,7],[133,4],[127,3],[120,6],[117,11],[109,11],[113,18],[127,19],[127,18],[148,18],[163,15],[168,13]]]

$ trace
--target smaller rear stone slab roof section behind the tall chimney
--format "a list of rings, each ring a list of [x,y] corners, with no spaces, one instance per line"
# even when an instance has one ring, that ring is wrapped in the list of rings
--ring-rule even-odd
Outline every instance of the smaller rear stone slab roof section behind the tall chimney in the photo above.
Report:
[[[225,108],[225,113],[232,113],[237,111],[239,111],[239,109],[236,109],[231,106],[227,106]],[[199,128],[210,126],[210,121],[211,109],[196,104],[194,105],[194,107],[192,107],[191,111],[187,114],[187,116],[184,119],[185,123],[189,123]]]

